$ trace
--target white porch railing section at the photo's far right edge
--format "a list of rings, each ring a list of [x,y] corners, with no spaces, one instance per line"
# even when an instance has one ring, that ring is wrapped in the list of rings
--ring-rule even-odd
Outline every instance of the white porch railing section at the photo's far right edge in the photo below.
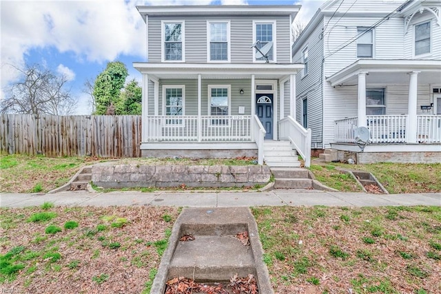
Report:
[[[441,116],[418,116],[418,143],[441,143]]]

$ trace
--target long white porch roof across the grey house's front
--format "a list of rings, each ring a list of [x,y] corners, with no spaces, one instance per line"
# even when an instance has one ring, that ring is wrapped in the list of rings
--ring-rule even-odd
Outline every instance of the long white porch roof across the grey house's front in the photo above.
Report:
[[[297,74],[305,65],[300,63],[143,63],[135,62],[133,67],[141,74],[162,78],[251,78],[284,79]]]

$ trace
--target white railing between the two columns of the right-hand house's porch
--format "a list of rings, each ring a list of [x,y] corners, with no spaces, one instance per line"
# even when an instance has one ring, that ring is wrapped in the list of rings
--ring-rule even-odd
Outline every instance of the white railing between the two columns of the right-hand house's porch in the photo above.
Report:
[[[407,116],[366,116],[371,143],[405,143]]]

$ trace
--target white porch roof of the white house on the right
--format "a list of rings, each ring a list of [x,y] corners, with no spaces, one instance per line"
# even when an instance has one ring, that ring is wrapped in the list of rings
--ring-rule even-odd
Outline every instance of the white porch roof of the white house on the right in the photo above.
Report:
[[[360,72],[368,73],[366,83],[371,84],[407,84],[409,72],[420,72],[419,83],[441,84],[441,60],[409,59],[360,59],[329,76],[326,81],[333,87],[357,84],[357,74]]]

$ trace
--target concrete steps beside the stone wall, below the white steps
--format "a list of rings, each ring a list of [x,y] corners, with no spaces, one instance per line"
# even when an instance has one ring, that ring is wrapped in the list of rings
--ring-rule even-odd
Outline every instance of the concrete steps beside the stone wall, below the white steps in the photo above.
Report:
[[[276,189],[313,189],[309,171],[300,167],[271,167]]]

